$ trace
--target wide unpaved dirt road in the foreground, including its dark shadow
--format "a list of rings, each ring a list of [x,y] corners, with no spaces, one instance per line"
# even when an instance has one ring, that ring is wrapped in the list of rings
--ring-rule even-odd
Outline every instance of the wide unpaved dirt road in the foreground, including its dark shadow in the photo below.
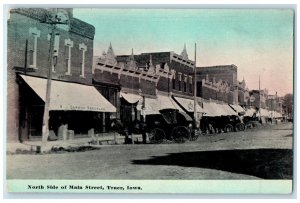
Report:
[[[184,144],[7,155],[6,174],[8,179],[291,179],[292,133],[288,123]]]

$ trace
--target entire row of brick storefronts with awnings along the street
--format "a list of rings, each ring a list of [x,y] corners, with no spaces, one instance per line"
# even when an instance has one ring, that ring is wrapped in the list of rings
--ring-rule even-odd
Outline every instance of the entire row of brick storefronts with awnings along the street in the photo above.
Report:
[[[41,139],[52,29],[43,19],[51,12],[11,10],[8,141]],[[95,28],[73,18],[72,9],[59,12],[70,23],[52,29],[54,50],[59,54],[54,55],[56,64],[52,68],[49,130],[57,139],[66,139],[62,134],[73,139],[89,136],[90,132],[110,132],[113,119],[130,125],[166,108],[178,109],[194,118],[196,105],[197,120],[251,114],[245,109],[249,92],[245,81],[237,81],[236,66],[197,68],[195,78],[195,64],[188,59],[185,46],[181,54],[170,51],[134,55],[132,51],[131,55],[116,56],[110,44],[103,56],[94,57]],[[257,109],[251,116],[258,112],[263,116],[264,112]],[[280,116],[276,112],[268,112],[268,116]]]

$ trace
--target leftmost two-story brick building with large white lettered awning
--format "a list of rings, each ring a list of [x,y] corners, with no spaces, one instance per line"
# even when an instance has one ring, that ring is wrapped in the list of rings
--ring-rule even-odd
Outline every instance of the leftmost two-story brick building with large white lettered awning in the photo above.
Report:
[[[75,134],[87,134],[87,130],[94,126],[91,123],[98,125],[102,121],[104,111],[115,111],[92,86],[95,28],[73,18],[72,12],[72,9],[10,10],[7,23],[9,141],[41,138],[46,78],[50,67],[50,36],[53,30],[50,130],[55,128],[53,131],[57,133],[58,126],[64,123]],[[64,24],[57,24],[53,29],[46,23],[52,18],[62,20]],[[91,103],[92,100],[95,102]],[[99,103],[102,101],[106,107],[101,107]],[[85,121],[82,116],[86,118]],[[78,127],[78,123],[81,123],[81,127]]]

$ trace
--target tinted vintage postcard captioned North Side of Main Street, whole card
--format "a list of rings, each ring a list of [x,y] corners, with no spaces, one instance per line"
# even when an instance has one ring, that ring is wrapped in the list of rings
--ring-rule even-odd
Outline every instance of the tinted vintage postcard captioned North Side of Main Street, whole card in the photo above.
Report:
[[[294,19],[10,6],[6,192],[291,194]]]

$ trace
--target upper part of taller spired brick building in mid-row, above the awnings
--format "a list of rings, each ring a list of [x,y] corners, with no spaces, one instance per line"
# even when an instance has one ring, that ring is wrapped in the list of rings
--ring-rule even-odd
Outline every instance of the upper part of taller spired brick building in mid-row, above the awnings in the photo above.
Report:
[[[137,70],[149,71],[150,69],[158,76],[154,88],[157,91],[172,92],[173,95],[178,96],[193,96],[194,61],[188,59],[185,46],[181,54],[172,51],[154,52],[122,55],[117,56],[116,59],[119,63],[126,64],[130,57],[134,58]]]

